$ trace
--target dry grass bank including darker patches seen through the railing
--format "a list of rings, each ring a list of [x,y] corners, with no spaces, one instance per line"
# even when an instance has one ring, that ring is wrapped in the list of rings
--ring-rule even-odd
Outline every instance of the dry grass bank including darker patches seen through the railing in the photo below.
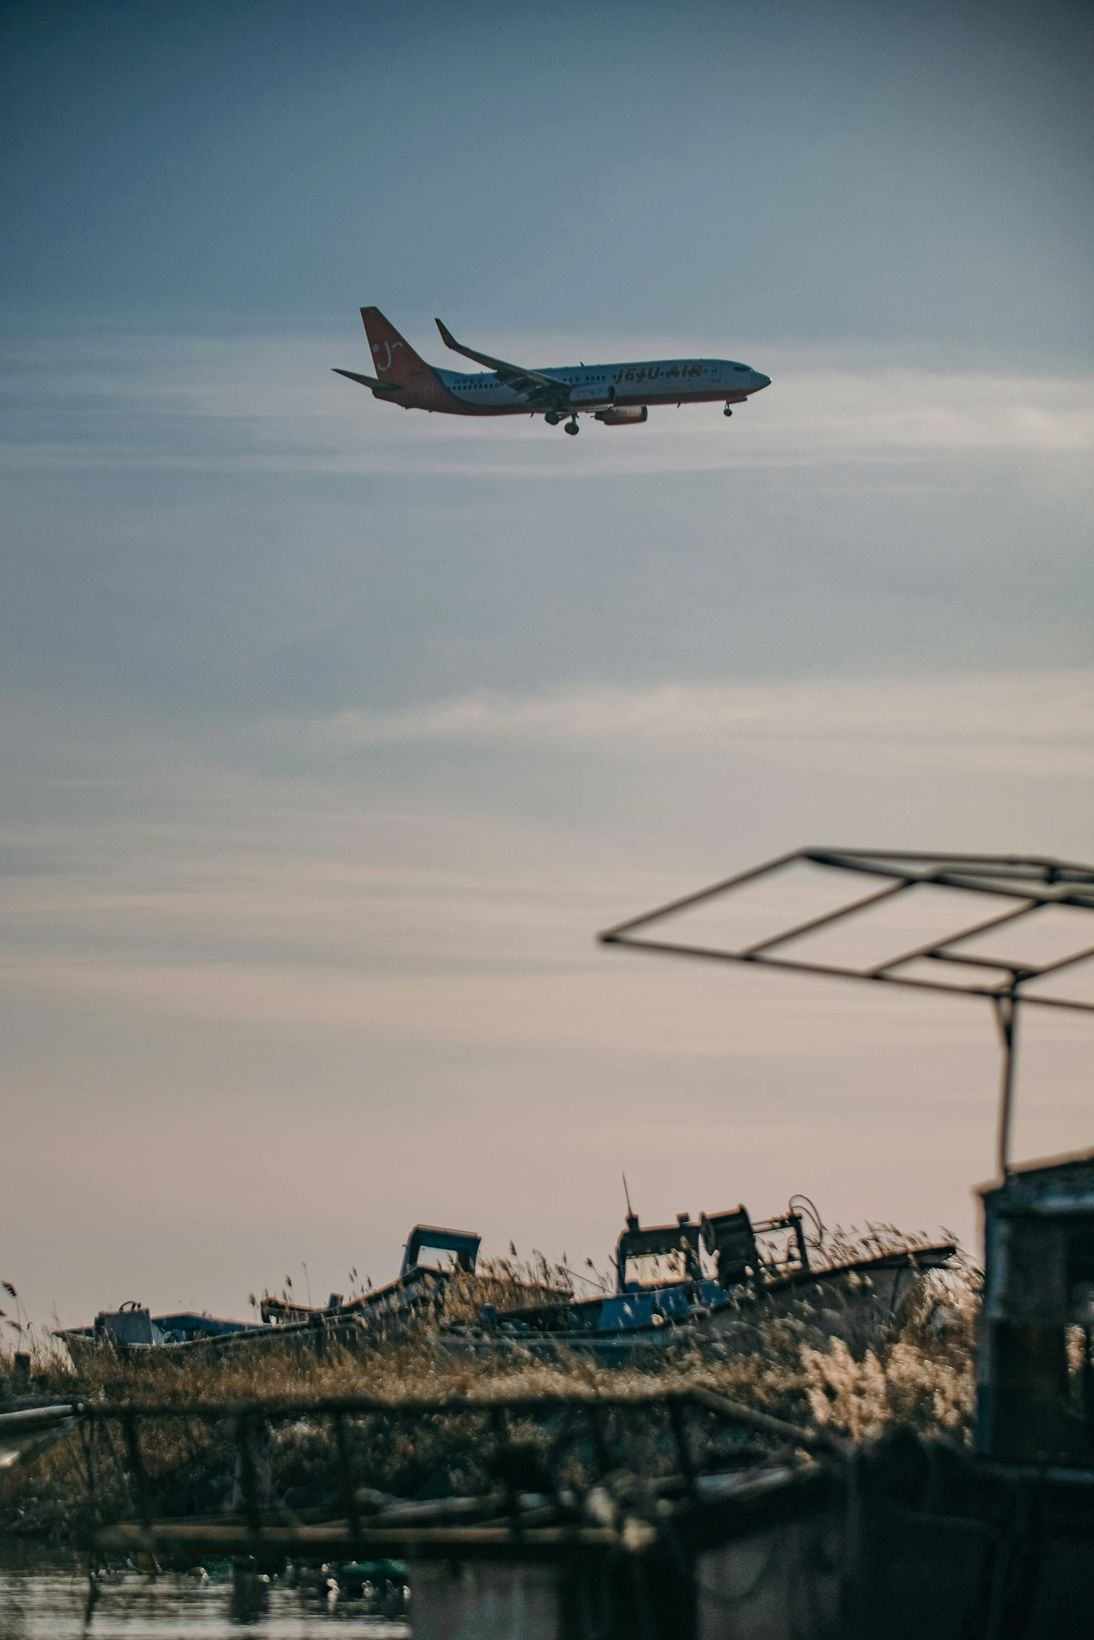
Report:
[[[495,1273],[494,1279],[500,1279]],[[523,1284],[523,1281],[522,1281]],[[512,1296],[512,1284],[510,1284]],[[469,1302],[456,1289],[454,1305]],[[479,1297],[479,1302],[482,1299]],[[492,1435],[489,1407],[502,1397],[582,1394],[627,1397],[651,1389],[705,1386],[794,1424],[817,1424],[851,1440],[868,1440],[892,1425],[966,1442],[973,1414],[974,1338],[979,1276],[974,1266],[935,1271],[904,1301],[874,1343],[853,1351],[817,1335],[809,1307],[756,1328],[758,1346],[730,1353],[725,1345],[664,1350],[643,1366],[602,1366],[587,1355],[558,1351],[551,1358],[512,1348],[472,1355],[454,1351],[441,1333],[441,1317],[422,1319],[412,1337],[344,1348],[323,1356],[282,1348],[228,1351],[149,1351],[139,1358],[98,1351],[79,1376],[43,1358],[36,1389],[97,1401],[207,1402],[367,1396],[390,1404],[390,1415],[353,1424],[354,1476],[367,1487],[397,1496],[489,1487]],[[451,1402],[451,1412],[415,1412],[422,1402]],[[482,1412],[467,1414],[464,1404]],[[510,1432],[528,1451],[540,1450],[549,1414]],[[230,1422],[175,1419],[144,1427],[144,1461],[156,1507],[164,1514],[205,1512],[233,1501],[233,1433]],[[540,1446],[536,1446],[540,1443]],[[123,1465],[100,1443],[97,1484],[107,1514],[131,1512]],[[654,1448],[650,1463],[661,1461]],[[713,1451],[715,1448],[712,1448]],[[717,1455],[715,1455],[717,1456]],[[307,1407],[267,1432],[271,1496],[321,1504],[335,1496],[330,1428]],[[715,1461],[712,1458],[712,1461]],[[727,1461],[723,1451],[717,1461]],[[732,1451],[728,1461],[733,1461]],[[34,1463],[8,1471],[0,1486],[0,1528],[13,1524],[67,1532],[85,1507],[87,1456],[69,1440]],[[238,1501],[238,1497],[236,1497]]]

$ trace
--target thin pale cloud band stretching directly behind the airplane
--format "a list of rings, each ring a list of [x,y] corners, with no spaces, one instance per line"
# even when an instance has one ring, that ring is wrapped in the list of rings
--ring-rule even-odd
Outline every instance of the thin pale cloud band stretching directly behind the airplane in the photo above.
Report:
[[[610,344],[618,351],[618,343]],[[650,353],[646,338],[627,344]],[[659,344],[664,351],[664,344]],[[543,344],[518,356],[540,358]],[[656,348],[653,351],[658,351]],[[0,461],[34,467],[461,472],[687,472],[1094,449],[1094,379],[925,371],[753,349],[774,385],[727,423],[718,405],[658,412],[586,438],[538,420],[395,417],[330,374],[326,338],[48,338],[7,356],[11,428]],[[18,415],[15,415],[18,407]],[[159,433],[157,433],[159,430]]]

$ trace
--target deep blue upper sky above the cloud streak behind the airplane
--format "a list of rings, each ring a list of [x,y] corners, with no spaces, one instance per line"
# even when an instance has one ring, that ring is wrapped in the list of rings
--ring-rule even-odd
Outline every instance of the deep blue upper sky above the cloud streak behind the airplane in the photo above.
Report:
[[[1091,354],[1089,10],[11,5],[13,300]]]

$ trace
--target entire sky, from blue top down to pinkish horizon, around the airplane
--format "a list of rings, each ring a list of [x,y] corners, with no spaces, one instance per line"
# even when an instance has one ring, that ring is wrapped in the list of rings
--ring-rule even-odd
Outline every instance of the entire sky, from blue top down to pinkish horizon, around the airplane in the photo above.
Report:
[[[5,1278],[604,1258],[794,1189],[950,1223],[991,1020],[592,935],[804,841],[1092,851],[1086,7],[0,18]],[[741,358],[725,421],[463,423],[379,303],[531,364]],[[1030,1027],[1019,1150],[1089,1141]],[[46,1228],[43,1230],[43,1223]],[[326,1287],[323,1286],[326,1282]]]

